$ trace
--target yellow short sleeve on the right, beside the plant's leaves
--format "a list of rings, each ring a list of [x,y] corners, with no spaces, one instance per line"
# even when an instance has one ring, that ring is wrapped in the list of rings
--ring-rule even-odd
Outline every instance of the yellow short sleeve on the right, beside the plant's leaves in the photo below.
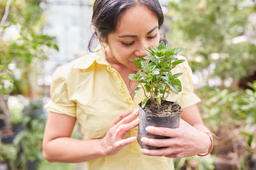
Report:
[[[189,67],[188,61],[186,60],[183,64],[184,68],[182,70],[181,82],[182,91],[181,93],[181,107],[187,108],[193,104],[199,103],[200,98],[194,93],[194,85],[192,81],[192,70]]]

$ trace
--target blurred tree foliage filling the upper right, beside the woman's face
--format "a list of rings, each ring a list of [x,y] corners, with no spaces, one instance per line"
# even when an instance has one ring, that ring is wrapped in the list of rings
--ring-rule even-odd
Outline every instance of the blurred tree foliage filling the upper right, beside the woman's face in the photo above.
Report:
[[[189,0],[169,4],[168,37],[172,45],[187,46],[184,55],[194,71],[214,64],[214,76],[236,80],[255,71],[256,45],[250,41],[234,43],[234,38],[246,31],[256,31],[256,25],[248,20],[256,12],[256,4],[246,6],[246,3],[245,0]],[[212,53],[218,57],[211,57]]]

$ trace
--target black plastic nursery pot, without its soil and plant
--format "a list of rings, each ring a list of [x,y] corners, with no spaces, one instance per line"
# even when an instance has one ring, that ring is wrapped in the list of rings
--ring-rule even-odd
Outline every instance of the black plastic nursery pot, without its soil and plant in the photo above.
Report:
[[[170,101],[164,101],[172,104],[173,102]],[[147,103],[148,104],[148,103]],[[150,134],[148,133],[145,128],[148,126],[154,126],[154,127],[168,127],[168,128],[178,128],[179,122],[180,122],[180,113],[168,116],[168,117],[155,117],[153,115],[148,114],[141,108],[141,103],[139,104],[139,118],[140,118],[140,124],[139,124],[139,131],[138,131],[138,138],[137,141],[140,144],[141,148],[150,149],[150,150],[156,150],[163,147],[156,147],[156,146],[149,146],[145,145],[141,142],[141,138],[146,137],[150,139],[168,139],[170,137],[167,136],[159,136],[156,134]]]

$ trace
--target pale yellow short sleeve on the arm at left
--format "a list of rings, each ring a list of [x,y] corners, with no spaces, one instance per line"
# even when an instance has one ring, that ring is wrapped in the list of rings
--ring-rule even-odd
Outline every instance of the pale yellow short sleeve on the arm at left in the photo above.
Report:
[[[45,105],[49,111],[76,117],[76,103],[68,98],[66,74],[58,67],[52,75],[51,101]]]

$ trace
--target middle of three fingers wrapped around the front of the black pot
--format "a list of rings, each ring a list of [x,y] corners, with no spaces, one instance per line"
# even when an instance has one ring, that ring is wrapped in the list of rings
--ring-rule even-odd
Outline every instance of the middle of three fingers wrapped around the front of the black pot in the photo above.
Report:
[[[173,146],[172,139],[149,139],[149,138],[141,138],[141,142],[145,143],[146,145],[150,146],[157,146],[157,147],[166,147],[166,146]]]

